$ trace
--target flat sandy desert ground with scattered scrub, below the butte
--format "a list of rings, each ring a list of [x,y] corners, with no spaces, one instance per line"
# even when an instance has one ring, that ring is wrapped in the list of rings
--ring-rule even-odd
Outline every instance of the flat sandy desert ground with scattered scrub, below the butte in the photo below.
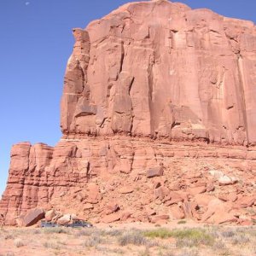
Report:
[[[0,229],[0,256],[256,255],[256,226],[97,224],[93,228]]]

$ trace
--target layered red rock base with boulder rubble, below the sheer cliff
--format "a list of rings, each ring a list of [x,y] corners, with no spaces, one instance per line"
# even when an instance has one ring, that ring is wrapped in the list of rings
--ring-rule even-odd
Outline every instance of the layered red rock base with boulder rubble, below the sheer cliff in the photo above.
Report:
[[[127,212],[129,221],[152,221],[152,212],[201,220],[217,200],[217,209],[227,207],[236,223],[251,221],[255,169],[256,149],[243,147],[130,137],[62,139],[55,148],[20,143],[12,149],[0,212],[7,224],[34,207],[93,221]],[[118,207],[109,212],[113,202]],[[185,212],[185,202],[192,212]]]

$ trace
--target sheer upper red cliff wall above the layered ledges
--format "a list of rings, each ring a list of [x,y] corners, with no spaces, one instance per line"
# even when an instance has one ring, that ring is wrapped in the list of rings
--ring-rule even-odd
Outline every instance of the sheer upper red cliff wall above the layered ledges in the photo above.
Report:
[[[151,1],[126,4],[74,37],[63,134],[256,142],[253,22]]]

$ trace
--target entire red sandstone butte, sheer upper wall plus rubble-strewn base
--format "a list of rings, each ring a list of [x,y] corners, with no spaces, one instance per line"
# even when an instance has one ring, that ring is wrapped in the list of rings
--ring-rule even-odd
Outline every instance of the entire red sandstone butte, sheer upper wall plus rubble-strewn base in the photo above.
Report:
[[[159,0],[127,3],[73,35],[63,137],[12,148],[2,222],[40,207],[104,222],[151,221],[150,209],[253,223],[253,22]],[[107,215],[111,204],[119,212]]]

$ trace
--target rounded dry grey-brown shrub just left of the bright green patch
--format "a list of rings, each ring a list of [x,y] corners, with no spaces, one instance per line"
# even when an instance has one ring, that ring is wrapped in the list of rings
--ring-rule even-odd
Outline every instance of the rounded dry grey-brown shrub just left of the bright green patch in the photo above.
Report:
[[[138,230],[131,230],[126,232],[122,236],[119,236],[118,242],[120,246],[125,246],[128,244],[140,246],[140,245],[147,245],[148,243],[147,239]]]

